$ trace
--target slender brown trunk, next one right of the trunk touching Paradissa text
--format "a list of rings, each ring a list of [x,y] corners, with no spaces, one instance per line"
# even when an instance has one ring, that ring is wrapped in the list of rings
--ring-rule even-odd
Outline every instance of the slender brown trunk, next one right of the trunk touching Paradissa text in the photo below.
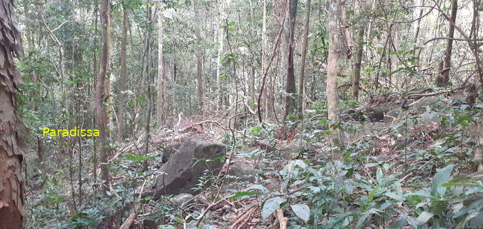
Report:
[[[126,45],[127,45],[127,31],[129,30],[129,10],[122,9],[123,12],[123,28],[121,37],[121,75],[119,83],[119,101],[117,102],[117,143],[124,140],[124,91],[126,91]]]

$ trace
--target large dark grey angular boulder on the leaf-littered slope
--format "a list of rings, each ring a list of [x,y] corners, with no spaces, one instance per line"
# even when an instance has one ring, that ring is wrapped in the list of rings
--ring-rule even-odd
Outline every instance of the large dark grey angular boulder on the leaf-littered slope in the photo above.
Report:
[[[155,181],[155,198],[162,194],[193,193],[192,187],[205,170],[217,175],[223,165],[226,147],[198,138],[189,138],[180,145],[169,161],[162,165]]]

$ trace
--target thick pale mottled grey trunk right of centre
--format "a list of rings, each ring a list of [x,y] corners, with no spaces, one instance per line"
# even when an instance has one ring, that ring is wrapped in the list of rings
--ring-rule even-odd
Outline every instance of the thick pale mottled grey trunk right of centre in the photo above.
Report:
[[[340,15],[343,10],[343,3],[341,0],[332,0],[329,9],[329,55],[327,64],[327,102],[328,102],[328,118],[332,124],[339,122],[339,111],[337,109],[337,73],[339,73],[341,66],[339,65],[339,57],[341,54],[341,31],[337,23],[337,15]],[[332,125],[331,124],[331,125]],[[339,146],[339,130],[332,129],[330,134],[330,143],[333,147]]]

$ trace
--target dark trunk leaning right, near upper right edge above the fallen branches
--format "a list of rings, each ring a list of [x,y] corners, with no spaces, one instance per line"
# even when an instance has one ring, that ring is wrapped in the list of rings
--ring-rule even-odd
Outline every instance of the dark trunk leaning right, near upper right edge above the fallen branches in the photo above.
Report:
[[[449,31],[448,36],[448,43],[446,44],[446,55],[444,56],[444,67],[443,72],[439,77],[436,79],[436,86],[439,87],[446,87],[446,84],[449,82],[449,70],[451,68],[451,52],[453,52],[453,38],[455,36],[455,24],[456,24],[456,13],[458,10],[458,1],[453,0],[451,3],[451,21],[449,21]]]

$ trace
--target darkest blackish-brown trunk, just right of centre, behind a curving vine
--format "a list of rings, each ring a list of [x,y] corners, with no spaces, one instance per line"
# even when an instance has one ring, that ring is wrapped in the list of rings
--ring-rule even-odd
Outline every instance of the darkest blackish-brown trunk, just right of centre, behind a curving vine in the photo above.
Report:
[[[289,1],[289,12],[288,12],[288,33],[287,33],[287,77],[285,80],[285,116],[295,113],[295,73],[294,73],[294,28],[295,28],[295,18],[297,12],[297,3],[299,0]]]

